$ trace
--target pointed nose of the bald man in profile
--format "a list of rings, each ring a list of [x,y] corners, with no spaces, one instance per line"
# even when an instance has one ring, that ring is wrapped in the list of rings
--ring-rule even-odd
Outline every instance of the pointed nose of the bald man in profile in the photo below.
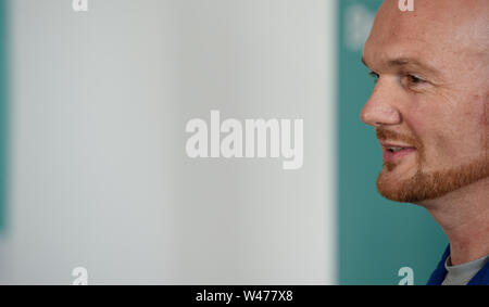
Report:
[[[387,84],[387,80],[379,79],[362,108],[360,114],[362,121],[373,127],[401,124],[401,113],[396,107],[396,101],[399,99],[396,97],[396,90]]]

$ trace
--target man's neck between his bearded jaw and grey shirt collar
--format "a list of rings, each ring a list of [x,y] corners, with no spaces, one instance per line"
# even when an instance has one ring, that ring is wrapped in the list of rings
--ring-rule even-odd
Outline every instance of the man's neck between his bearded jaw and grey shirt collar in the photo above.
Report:
[[[419,205],[447,234],[453,266],[489,255],[489,178]]]

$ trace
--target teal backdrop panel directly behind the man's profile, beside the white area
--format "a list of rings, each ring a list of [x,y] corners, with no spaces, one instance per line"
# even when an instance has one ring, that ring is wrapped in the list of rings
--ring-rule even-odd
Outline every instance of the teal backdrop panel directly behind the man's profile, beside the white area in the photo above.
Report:
[[[398,284],[401,267],[425,284],[448,241],[422,207],[383,199],[376,190],[381,150],[360,120],[374,80],[361,63],[379,0],[338,0],[339,14],[339,283]]]

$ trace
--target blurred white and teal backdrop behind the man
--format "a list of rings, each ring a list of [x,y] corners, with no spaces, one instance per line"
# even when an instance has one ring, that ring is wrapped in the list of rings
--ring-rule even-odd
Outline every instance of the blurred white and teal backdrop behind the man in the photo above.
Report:
[[[360,121],[380,2],[0,0],[0,283],[426,283],[447,240]],[[303,167],[187,157],[211,110],[303,119]]]

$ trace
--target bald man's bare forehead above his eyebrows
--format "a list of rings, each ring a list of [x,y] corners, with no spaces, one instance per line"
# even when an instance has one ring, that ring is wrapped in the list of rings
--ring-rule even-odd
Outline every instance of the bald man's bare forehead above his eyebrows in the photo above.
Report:
[[[482,44],[489,44],[489,14],[485,15],[489,1],[478,1],[417,0],[414,12],[401,12],[397,0],[385,1],[365,43],[365,61],[379,64],[410,57],[443,67],[460,56],[487,56]],[[481,4],[471,7],[469,2]]]

